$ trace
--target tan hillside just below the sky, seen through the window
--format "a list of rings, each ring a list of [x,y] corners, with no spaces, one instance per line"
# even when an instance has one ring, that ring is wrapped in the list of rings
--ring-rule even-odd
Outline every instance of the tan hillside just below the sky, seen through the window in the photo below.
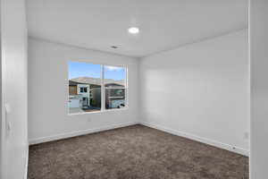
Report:
[[[101,80],[99,78],[91,78],[91,77],[78,77],[69,80],[69,85],[76,85],[76,84],[93,84],[93,85],[101,85]],[[114,81],[113,79],[105,79],[105,85],[111,84],[111,85],[120,85],[120,86],[125,86],[125,81],[120,80],[120,81]]]

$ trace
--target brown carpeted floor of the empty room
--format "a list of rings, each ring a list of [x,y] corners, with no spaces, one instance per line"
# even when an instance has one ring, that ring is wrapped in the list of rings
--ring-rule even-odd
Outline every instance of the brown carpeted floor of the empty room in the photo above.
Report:
[[[29,179],[247,179],[248,158],[143,125],[30,146]]]

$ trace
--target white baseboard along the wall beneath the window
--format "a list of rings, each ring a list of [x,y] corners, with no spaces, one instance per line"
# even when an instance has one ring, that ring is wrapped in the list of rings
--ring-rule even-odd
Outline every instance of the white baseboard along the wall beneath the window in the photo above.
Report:
[[[96,128],[96,129],[81,130],[81,131],[76,131],[76,132],[66,132],[66,133],[51,135],[51,136],[42,137],[42,138],[38,138],[38,139],[30,139],[29,145],[44,143],[47,141],[63,140],[66,138],[85,135],[85,134],[89,134],[89,133],[103,132],[103,131],[107,131],[107,130],[111,130],[111,129],[116,129],[116,128],[134,125],[134,124],[139,124],[139,123],[138,122],[130,122],[130,123],[125,123],[125,124],[113,124],[110,126],[100,127],[100,128]]]

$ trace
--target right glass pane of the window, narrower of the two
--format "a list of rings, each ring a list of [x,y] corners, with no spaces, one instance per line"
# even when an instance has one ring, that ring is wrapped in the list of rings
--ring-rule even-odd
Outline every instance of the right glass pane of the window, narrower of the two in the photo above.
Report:
[[[126,68],[105,66],[105,108],[126,106]]]

